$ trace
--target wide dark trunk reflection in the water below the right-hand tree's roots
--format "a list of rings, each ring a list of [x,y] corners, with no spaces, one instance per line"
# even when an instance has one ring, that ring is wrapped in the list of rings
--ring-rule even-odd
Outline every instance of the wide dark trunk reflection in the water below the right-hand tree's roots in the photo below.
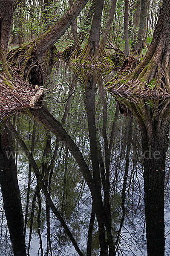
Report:
[[[166,111],[169,113],[168,109]],[[164,118],[164,115],[158,116],[153,122],[150,120],[149,125],[145,123],[145,127],[139,122],[144,152],[144,205],[148,256],[164,256],[164,176],[169,122],[169,117]]]

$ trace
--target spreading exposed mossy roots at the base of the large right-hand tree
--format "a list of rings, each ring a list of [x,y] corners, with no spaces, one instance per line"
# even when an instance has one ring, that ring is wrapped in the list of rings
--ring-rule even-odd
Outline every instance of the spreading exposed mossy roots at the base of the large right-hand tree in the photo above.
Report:
[[[170,95],[169,51],[161,57],[162,51],[157,47],[150,59],[146,56],[135,68],[137,62],[130,56],[124,61],[121,71],[105,87],[109,91],[141,96]]]

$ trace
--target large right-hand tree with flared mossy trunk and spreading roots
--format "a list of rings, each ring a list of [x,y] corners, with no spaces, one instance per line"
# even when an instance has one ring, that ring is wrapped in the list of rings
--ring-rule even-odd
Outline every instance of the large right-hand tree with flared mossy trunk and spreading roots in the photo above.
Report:
[[[164,0],[160,7],[153,39],[144,59],[133,70],[134,62],[122,68],[119,75],[106,86],[111,90],[141,95],[170,94],[170,1]],[[125,60],[131,61],[132,56]],[[125,63],[124,63],[125,64]],[[132,71],[133,70],[133,71]],[[132,72],[131,72],[132,71]]]

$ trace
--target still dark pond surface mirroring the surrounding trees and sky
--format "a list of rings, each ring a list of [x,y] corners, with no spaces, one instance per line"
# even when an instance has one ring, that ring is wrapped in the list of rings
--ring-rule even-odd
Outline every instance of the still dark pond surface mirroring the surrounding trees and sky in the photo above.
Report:
[[[102,74],[81,73],[82,82],[58,70],[62,66],[54,70],[46,107],[2,125],[0,183],[13,250],[25,247],[24,216],[27,252],[38,234],[46,255],[164,255],[170,99],[112,91],[113,97]],[[71,87],[61,84],[65,79]],[[20,219],[11,221],[15,215]],[[1,241],[5,225],[3,218]],[[2,248],[1,255],[10,255],[10,243]]]

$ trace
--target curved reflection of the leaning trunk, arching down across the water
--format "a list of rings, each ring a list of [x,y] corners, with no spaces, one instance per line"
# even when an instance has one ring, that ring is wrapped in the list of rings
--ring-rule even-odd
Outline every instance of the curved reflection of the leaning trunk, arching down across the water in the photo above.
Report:
[[[111,255],[115,256],[115,248],[112,242],[111,226],[104,209],[100,189],[98,189],[98,186],[100,186],[100,184],[98,184],[98,177],[95,177],[95,181],[93,180],[89,168],[86,165],[86,162],[79,148],[73,142],[71,137],[69,137],[66,131],[61,127],[61,124],[45,108],[42,107],[40,109],[37,109],[36,111],[30,109],[30,113],[34,115],[34,117],[38,119],[40,122],[42,122],[43,125],[45,125],[46,128],[48,128],[53,134],[55,134],[58,137],[58,139],[60,139],[63,142],[63,144],[66,145],[66,147],[75,157],[75,160],[77,161],[78,166],[80,167],[81,172],[84,175],[84,178],[86,179],[87,185],[89,186],[92,195],[92,200],[95,204],[94,207],[99,225],[102,228],[102,225],[104,223],[106,227],[107,238],[109,241],[109,251]],[[95,186],[95,183],[97,183],[97,187]],[[104,247],[106,247],[105,241],[102,241],[102,244],[104,244]]]

